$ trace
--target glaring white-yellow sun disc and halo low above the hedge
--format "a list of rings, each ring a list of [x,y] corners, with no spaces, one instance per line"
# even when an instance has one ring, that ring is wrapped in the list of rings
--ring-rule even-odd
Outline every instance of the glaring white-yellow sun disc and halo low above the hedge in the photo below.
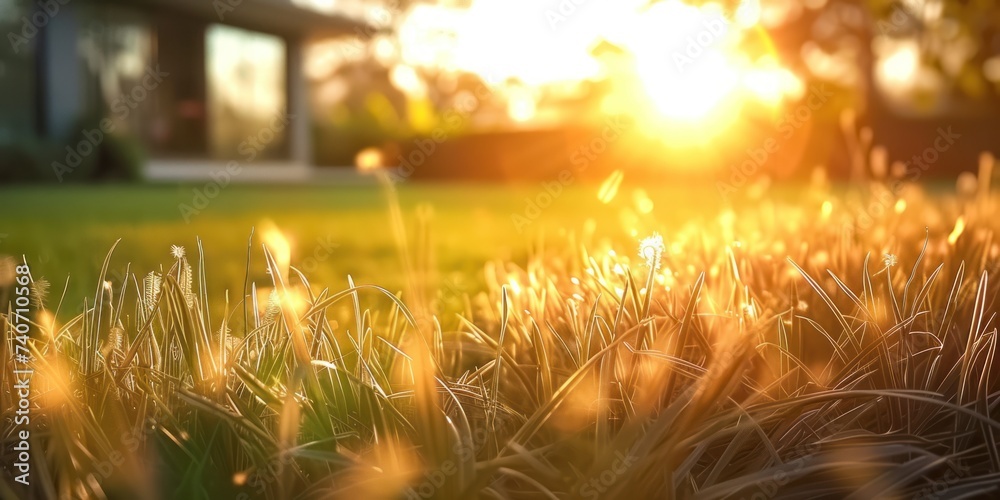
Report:
[[[632,64],[613,75],[604,111],[632,114],[674,143],[705,145],[727,132],[748,103],[777,110],[801,93],[801,82],[780,65],[759,13],[757,0],[732,12],[680,0],[646,9],[619,41]],[[750,53],[748,45],[762,53]]]

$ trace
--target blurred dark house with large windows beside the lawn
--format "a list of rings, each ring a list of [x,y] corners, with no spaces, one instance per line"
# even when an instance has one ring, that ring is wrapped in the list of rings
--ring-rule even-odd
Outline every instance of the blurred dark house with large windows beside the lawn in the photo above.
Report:
[[[0,0],[0,179],[304,177],[304,48],[363,26],[300,4]]]

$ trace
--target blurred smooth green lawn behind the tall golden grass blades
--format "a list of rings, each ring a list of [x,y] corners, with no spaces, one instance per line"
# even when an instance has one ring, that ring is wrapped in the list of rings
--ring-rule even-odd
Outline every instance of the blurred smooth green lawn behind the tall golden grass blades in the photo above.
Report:
[[[62,292],[70,278],[66,303],[74,311],[85,296],[93,296],[104,255],[115,240],[110,276],[118,281],[127,264],[139,276],[169,265],[171,245],[182,245],[196,255],[196,237],[204,244],[209,293],[221,297],[227,289],[240,290],[251,228],[272,221],[292,245],[292,265],[304,267],[314,284],[340,289],[347,275],[356,282],[379,284],[390,290],[403,286],[399,252],[393,239],[387,196],[369,186],[230,186],[187,222],[180,206],[191,204],[192,185],[17,186],[0,189],[0,255],[25,255],[36,277],[52,283],[52,295]],[[622,189],[609,205],[598,203],[598,186],[567,188],[551,206],[518,232],[512,215],[525,211],[526,198],[536,198],[541,186],[403,185],[399,188],[411,253],[416,244],[420,214],[430,214],[432,268],[440,283],[455,291],[471,291],[481,284],[483,264],[504,260],[523,264],[542,241],[581,235],[593,220],[595,238],[614,240],[632,235],[625,218],[640,217],[628,209],[633,191]],[[649,191],[658,207],[642,216],[658,223],[697,220],[698,207],[719,201],[705,187],[699,190],[659,188]],[[680,201],[678,201],[680,200]],[[544,196],[543,196],[544,201]],[[425,210],[422,207],[429,207]],[[586,208],[582,208],[586,207]],[[261,259],[260,238],[254,258]],[[324,247],[332,247],[329,257]],[[260,261],[258,260],[258,263]],[[270,280],[253,266],[259,284]],[[238,295],[238,294],[237,294]]]

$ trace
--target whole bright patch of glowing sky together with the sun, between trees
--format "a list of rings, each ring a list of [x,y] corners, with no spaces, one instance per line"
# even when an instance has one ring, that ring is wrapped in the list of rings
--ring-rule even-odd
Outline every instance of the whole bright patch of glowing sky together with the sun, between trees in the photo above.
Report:
[[[760,17],[760,0],[730,12],[681,0],[420,4],[402,18],[398,67],[408,75],[413,68],[476,74],[516,123],[540,117],[543,90],[571,94],[567,89],[586,82],[609,82],[601,112],[636,116],[642,129],[671,139],[705,142],[736,121],[745,103],[776,107],[803,92],[775,57]],[[748,54],[748,45],[764,53]],[[613,55],[598,46],[613,47]],[[422,94],[412,78],[393,74],[401,90]]]

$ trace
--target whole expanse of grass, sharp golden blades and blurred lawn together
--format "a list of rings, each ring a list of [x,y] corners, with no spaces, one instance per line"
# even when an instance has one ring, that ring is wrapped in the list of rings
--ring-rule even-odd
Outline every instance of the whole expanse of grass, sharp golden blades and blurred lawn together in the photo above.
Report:
[[[32,494],[987,495],[1000,484],[997,203],[887,185],[732,206],[650,190],[652,213],[631,192],[605,205],[580,189],[529,236],[510,211],[530,187],[248,190],[191,227],[155,201],[169,191],[134,195],[152,207],[142,216],[69,220],[72,202],[35,210],[18,193],[34,205],[17,244],[59,235],[53,252],[79,259],[59,269],[83,270],[101,261],[92,245],[125,236],[103,267],[127,258],[134,273],[110,287],[106,269],[88,275],[79,314],[53,312],[74,306],[55,294],[33,313]],[[886,199],[859,227],[858,204]],[[93,235],[90,217],[110,223]],[[147,218],[159,222],[129,247],[125,228]],[[347,250],[297,272],[327,228]],[[657,231],[664,246],[640,253]],[[481,278],[449,295],[445,269]],[[3,496],[24,491],[5,481]]]

